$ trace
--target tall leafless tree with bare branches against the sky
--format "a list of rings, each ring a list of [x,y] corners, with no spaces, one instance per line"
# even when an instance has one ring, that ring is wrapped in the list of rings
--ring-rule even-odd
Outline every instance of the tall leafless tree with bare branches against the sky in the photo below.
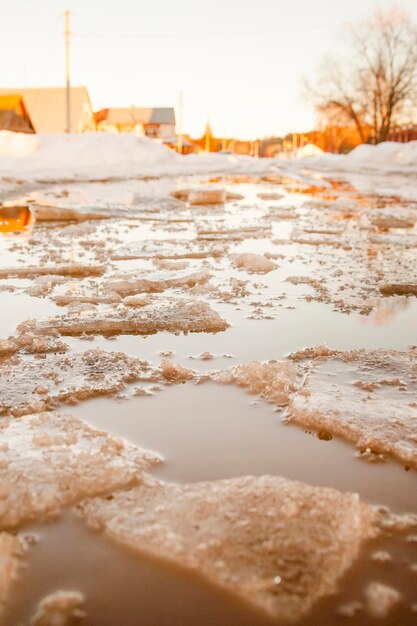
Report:
[[[376,11],[350,25],[343,56],[328,55],[307,83],[316,108],[339,124],[354,124],[361,141],[386,141],[417,99],[417,28],[399,9]]]

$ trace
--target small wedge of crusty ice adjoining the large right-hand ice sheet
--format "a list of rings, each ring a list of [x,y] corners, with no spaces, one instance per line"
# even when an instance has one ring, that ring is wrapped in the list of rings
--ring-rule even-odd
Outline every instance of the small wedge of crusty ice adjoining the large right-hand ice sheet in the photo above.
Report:
[[[298,367],[292,363],[268,361],[245,363],[223,372],[214,372],[213,379],[223,384],[235,384],[284,406],[297,388]]]

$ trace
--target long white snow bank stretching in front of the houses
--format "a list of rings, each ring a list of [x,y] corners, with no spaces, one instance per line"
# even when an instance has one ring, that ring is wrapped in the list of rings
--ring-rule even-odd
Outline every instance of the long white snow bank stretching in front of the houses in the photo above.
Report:
[[[129,134],[0,132],[0,177],[27,181],[268,172],[305,179],[306,168],[335,173],[363,170],[410,173],[417,170],[417,141],[362,145],[348,155],[320,154],[318,148],[307,145],[295,156],[291,160],[215,153],[182,156],[147,137]]]

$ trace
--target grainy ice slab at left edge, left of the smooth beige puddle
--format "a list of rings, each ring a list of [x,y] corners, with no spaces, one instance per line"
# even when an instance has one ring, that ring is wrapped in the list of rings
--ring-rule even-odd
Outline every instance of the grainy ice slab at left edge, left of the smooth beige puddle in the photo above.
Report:
[[[82,498],[134,484],[159,458],[45,412],[0,423],[0,526],[49,519]]]

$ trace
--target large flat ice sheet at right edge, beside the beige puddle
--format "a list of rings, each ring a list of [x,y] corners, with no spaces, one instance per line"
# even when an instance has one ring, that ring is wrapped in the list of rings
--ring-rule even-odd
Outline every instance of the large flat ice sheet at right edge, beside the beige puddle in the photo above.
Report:
[[[312,361],[289,419],[417,468],[416,397],[416,348],[335,352]]]

